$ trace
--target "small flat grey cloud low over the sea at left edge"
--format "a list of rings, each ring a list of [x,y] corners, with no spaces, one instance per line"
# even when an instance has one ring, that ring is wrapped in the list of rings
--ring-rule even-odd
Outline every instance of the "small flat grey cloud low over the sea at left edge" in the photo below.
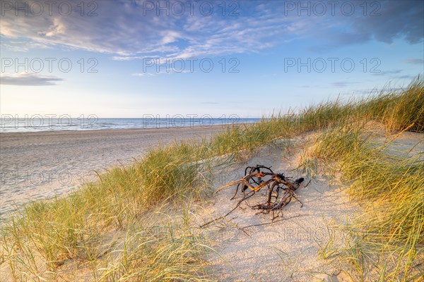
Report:
[[[51,75],[41,75],[39,73],[17,73],[13,75],[1,75],[0,84],[20,85],[20,86],[45,86],[56,85],[63,79]]]

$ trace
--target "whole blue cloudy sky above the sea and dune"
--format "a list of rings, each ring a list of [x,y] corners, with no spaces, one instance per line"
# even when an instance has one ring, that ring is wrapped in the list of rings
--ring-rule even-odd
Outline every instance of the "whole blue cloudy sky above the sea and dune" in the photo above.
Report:
[[[8,116],[258,118],[406,87],[424,1],[1,1]]]

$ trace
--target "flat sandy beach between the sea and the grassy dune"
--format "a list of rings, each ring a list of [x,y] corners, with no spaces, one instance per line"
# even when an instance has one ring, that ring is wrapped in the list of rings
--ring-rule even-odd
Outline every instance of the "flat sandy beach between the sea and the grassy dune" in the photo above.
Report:
[[[200,140],[222,125],[187,128],[1,133],[0,214],[16,204],[64,195],[97,178],[95,171],[128,164],[158,144]]]

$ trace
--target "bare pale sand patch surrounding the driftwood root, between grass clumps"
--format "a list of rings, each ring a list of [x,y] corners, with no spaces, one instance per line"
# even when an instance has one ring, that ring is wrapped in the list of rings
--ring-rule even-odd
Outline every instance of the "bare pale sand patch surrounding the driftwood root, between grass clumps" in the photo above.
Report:
[[[246,166],[272,166],[274,172],[293,179],[305,176],[301,171],[293,171],[294,164],[284,156],[278,146],[266,147],[259,157],[249,159]],[[240,164],[228,168],[227,173],[221,174],[224,177],[217,176],[216,187],[242,177],[244,169]],[[322,273],[341,278],[341,269],[319,259],[318,250],[330,235],[344,235],[335,234],[340,231],[327,229],[327,226],[346,224],[353,218],[356,207],[342,188],[329,185],[324,176],[307,178],[309,180],[312,181],[306,188],[302,185],[297,191],[303,207],[295,200],[290,202],[283,209],[283,221],[244,228],[269,223],[272,215],[257,214],[257,210],[242,204],[225,220],[217,221],[204,231],[218,242],[219,255],[211,255],[209,262],[219,281],[311,281]],[[238,195],[230,201],[234,191],[234,188],[226,188],[218,192],[210,206],[199,209],[198,217],[208,221],[229,212],[241,199]],[[249,204],[257,204],[263,202],[264,195],[251,199]]]

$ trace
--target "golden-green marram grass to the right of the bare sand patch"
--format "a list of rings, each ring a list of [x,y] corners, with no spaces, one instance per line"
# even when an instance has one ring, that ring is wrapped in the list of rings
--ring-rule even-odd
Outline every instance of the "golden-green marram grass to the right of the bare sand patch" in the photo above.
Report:
[[[362,203],[363,214],[349,228],[351,245],[331,252],[351,260],[365,281],[368,265],[374,265],[379,281],[413,281],[423,275],[416,264],[424,257],[424,149],[413,155],[410,148],[393,152],[395,140],[378,142],[364,124],[338,125],[324,130],[308,152],[310,159],[338,173]],[[424,140],[416,147],[424,148]]]

